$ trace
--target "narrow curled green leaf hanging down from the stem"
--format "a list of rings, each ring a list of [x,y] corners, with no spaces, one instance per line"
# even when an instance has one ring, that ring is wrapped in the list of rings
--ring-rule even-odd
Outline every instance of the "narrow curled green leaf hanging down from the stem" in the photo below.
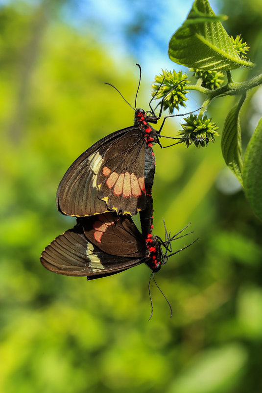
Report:
[[[239,103],[229,111],[221,136],[221,149],[227,166],[238,178],[239,183],[243,186],[242,179],[242,148],[241,148],[241,131],[239,123],[239,111],[246,94],[243,94]]]

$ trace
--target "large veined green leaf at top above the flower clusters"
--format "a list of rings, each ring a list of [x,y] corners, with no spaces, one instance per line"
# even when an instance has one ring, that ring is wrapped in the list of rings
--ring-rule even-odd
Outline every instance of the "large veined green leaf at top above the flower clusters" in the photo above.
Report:
[[[253,63],[243,60],[208,0],[195,0],[184,24],[169,42],[169,57],[175,63],[205,70],[233,70]]]

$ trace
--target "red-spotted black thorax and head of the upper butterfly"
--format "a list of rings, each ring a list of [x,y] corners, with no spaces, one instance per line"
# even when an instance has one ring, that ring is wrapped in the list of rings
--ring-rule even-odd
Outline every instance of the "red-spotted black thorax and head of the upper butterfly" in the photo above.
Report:
[[[151,112],[150,112],[151,113]],[[158,117],[146,116],[143,109],[137,109],[135,112],[135,126],[143,132],[144,140],[147,146],[152,147],[152,143],[157,143],[157,131],[153,129],[148,123],[157,123]]]

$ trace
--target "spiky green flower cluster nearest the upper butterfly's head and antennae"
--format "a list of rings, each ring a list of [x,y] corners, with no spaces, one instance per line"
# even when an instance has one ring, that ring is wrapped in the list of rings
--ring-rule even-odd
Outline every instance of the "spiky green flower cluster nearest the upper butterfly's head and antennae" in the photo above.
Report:
[[[166,96],[163,109],[168,108],[170,114],[173,113],[174,108],[178,109],[179,105],[186,106],[185,102],[188,100],[185,96],[188,93],[186,84],[189,83],[188,80],[185,80],[187,78],[188,76],[182,71],[176,73],[175,71],[162,70],[162,74],[157,75],[152,84],[152,96],[156,99]]]

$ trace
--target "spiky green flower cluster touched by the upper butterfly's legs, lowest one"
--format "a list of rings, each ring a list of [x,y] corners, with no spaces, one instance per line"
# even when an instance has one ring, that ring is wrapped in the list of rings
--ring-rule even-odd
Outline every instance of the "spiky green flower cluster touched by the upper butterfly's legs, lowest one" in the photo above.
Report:
[[[218,127],[206,115],[203,118],[197,118],[197,115],[191,113],[184,120],[186,123],[181,124],[183,130],[178,131],[178,135],[182,135],[181,142],[184,142],[187,147],[191,144],[196,147],[205,147],[210,141],[214,142],[214,136],[219,136],[216,132]]]

